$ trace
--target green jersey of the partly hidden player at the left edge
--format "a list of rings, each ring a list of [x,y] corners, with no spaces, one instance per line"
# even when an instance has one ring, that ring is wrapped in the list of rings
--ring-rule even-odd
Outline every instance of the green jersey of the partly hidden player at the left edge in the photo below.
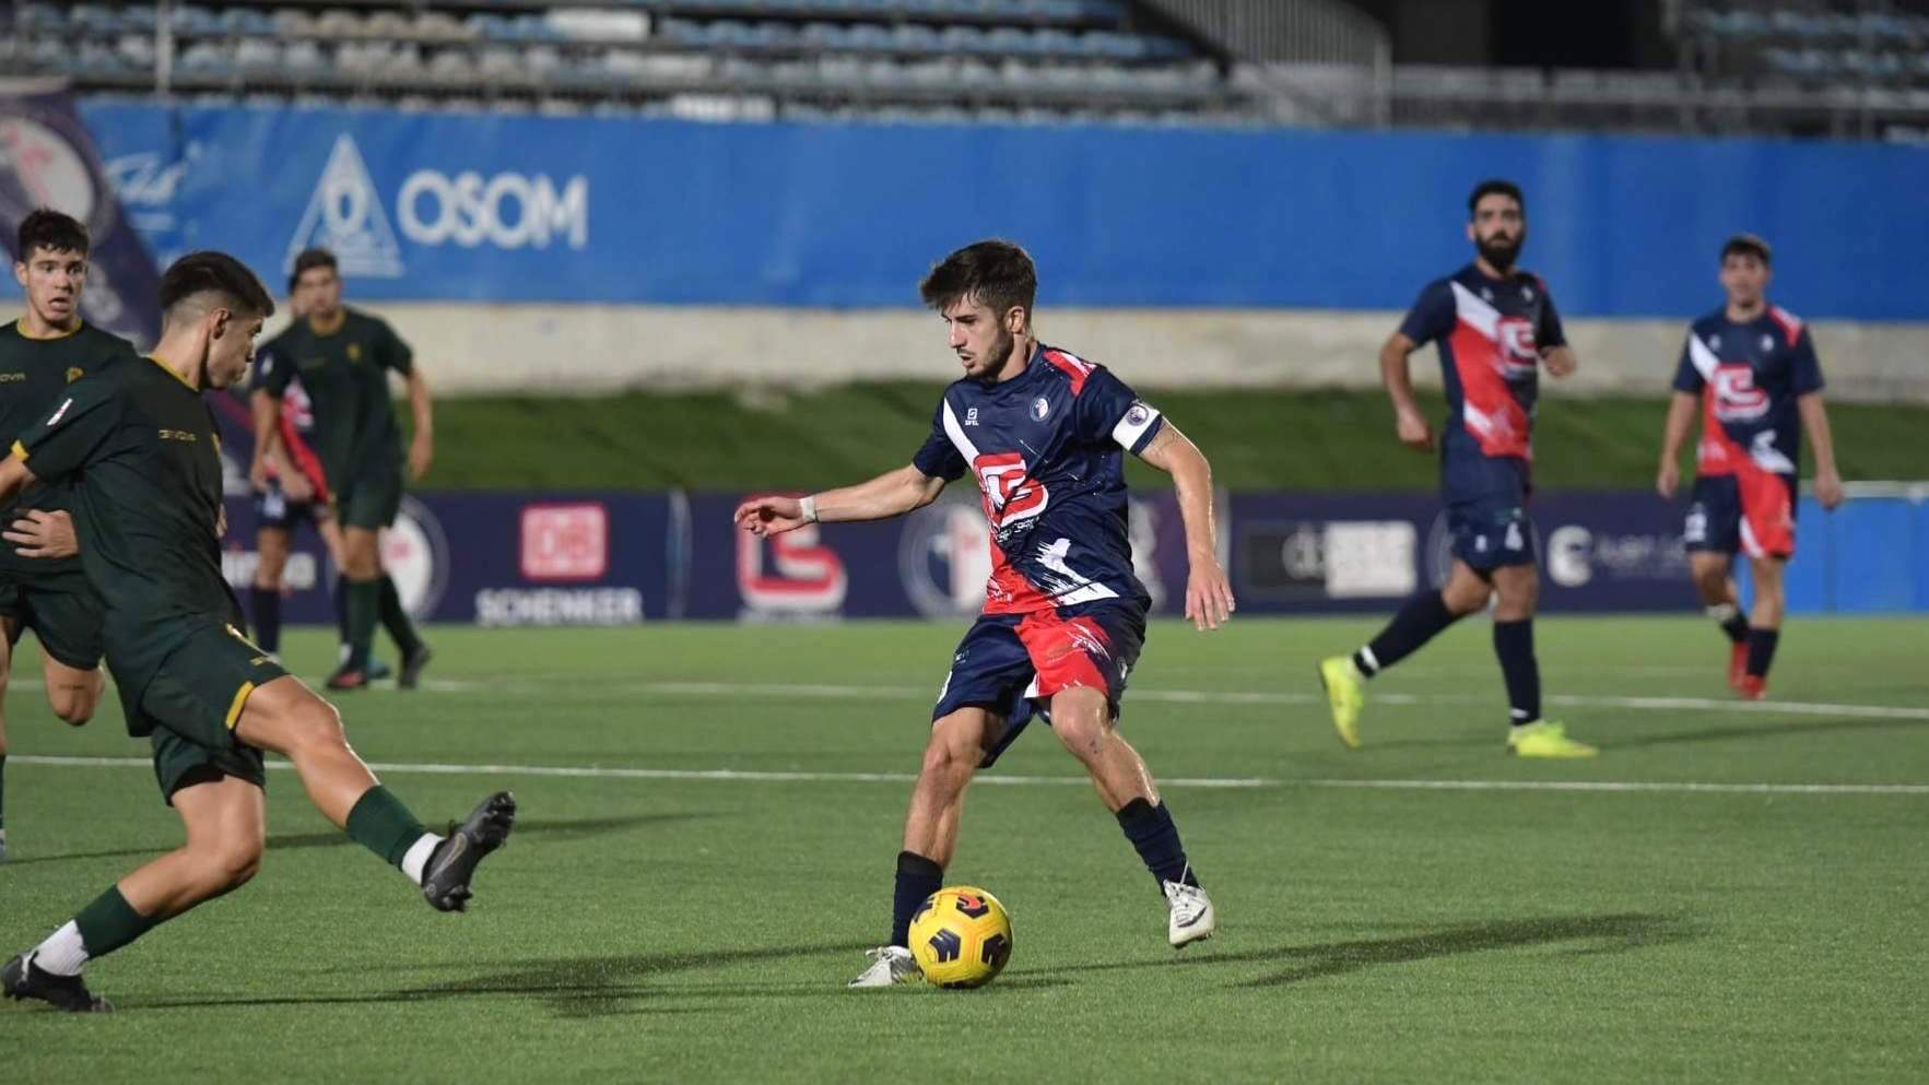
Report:
[[[69,384],[100,372],[116,358],[131,357],[133,343],[91,324],[46,339],[27,335],[17,320],[0,326],[0,449],[14,447],[27,426],[46,418]],[[27,509],[71,509],[68,488],[35,486],[0,511],[0,524],[14,522]],[[19,557],[12,545],[0,545],[0,567],[69,572],[79,570],[81,563],[73,557]]]

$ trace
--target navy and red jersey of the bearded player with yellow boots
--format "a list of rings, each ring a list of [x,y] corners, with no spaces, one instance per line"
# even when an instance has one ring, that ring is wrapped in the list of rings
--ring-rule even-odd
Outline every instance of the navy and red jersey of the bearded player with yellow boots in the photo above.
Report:
[[[1491,279],[1468,264],[1420,291],[1400,333],[1439,343],[1447,384],[1441,453],[1534,459],[1541,351],[1564,347],[1561,314],[1539,276]]]

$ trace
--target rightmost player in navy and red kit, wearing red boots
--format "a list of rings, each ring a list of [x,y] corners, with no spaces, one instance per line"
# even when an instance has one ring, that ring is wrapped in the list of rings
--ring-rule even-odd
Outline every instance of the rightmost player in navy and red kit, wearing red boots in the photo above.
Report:
[[[1728,304],[1696,320],[1674,370],[1655,490],[1674,497],[1680,449],[1699,409],[1701,443],[1688,507],[1688,561],[1707,615],[1728,634],[1728,684],[1748,700],[1767,688],[1782,626],[1782,567],[1796,553],[1800,418],[1815,449],[1815,499],[1842,503],[1821,362],[1802,318],[1769,304],[1769,243],[1740,235],[1721,249]],[[1728,570],[1748,555],[1755,599],[1744,617]]]

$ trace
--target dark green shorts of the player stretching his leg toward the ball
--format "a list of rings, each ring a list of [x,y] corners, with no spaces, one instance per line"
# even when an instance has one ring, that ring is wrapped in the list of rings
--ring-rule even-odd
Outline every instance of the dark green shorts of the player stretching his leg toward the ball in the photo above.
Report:
[[[174,806],[174,792],[193,782],[191,773],[268,784],[260,750],[235,738],[235,723],[257,686],[285,675],[233,626],[197,630],[168,653],[141,703],[127,713],[129,730],[152,732],[154,781],[168,806]]]

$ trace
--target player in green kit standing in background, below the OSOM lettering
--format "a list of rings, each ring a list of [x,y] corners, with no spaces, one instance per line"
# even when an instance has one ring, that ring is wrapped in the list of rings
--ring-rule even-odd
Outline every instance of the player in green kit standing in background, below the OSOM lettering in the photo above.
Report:
[[[347,578],[343,611],[349,651],[328,676],[328,688],[359,690],[368,684],[368,648],[380,619],[401,651],[395,684],[409,690],[430,651],[401,609],[395,582],[382,570],[378,545],[382,528],[401,509],[403,488],[401,426],[390,403],[388,374],[394,370],[409,384],[415,418],[407,455],[411,478],[421,478],[434,459],[428,384],[415,368],[409,345],[386,322],[341,304],[341,276],[332,252],[309,249],[295,256],[295,293],[303,316],[276,335],[274,364],[253,395],[255,464],[249,480],[257,490],[266,486],[266,457],[280,447],[282,393],[293,378],[301,378],[314,410],[311,439],[336,491],[341,574]]]

